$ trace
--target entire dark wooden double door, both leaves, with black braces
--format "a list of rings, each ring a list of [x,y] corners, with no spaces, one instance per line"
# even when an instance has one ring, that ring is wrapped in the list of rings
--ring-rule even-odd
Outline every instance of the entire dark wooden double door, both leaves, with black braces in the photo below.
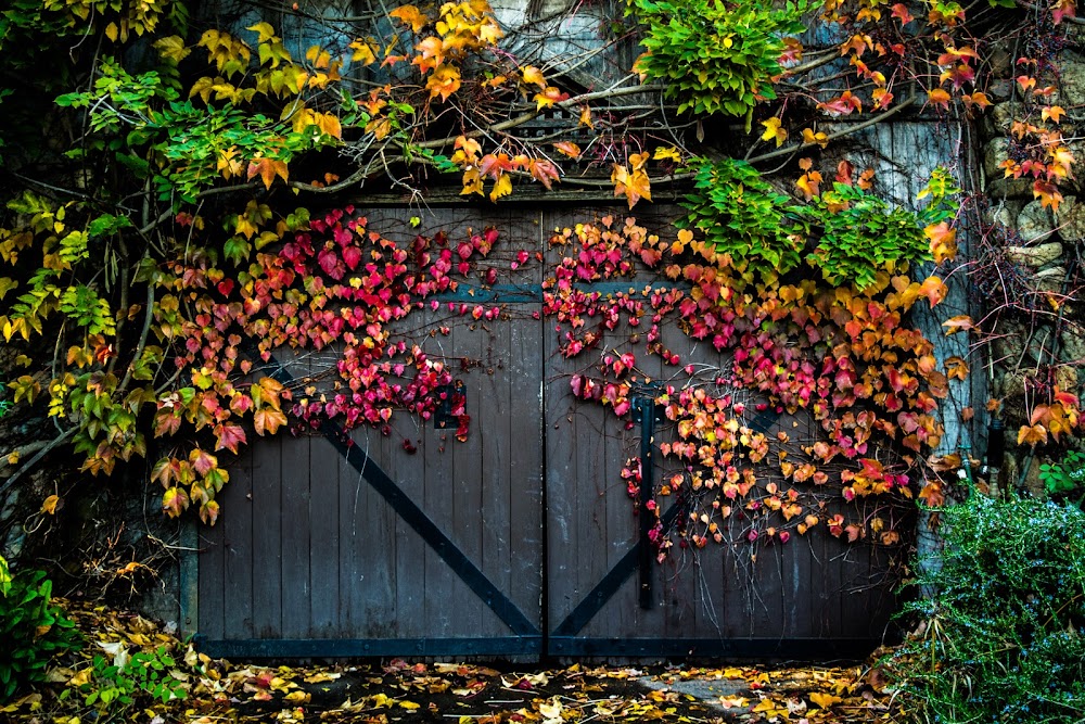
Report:
[[[500,231],[485,262],[499,270],[497,283],[464,283],[395,331],[457,369],[470,434],[459,442],[447,428],[403,416],[388,434],[326,423],[318,433],[247,448],[231,469],[218,525],[202,529],[196,545],[197,596],[187,614],[204,650],[518,658],[869,651],[893,610],[888,561],[873,547],[848,546],[822,526],[787,545],[676,546],[656,561],[641,500],[630,499],[622,471],[651,453],[662,480],[658,453],[673,430],[651,415],[630,421],[577,401],[570,380],[610,350],[630,351],[646,383],[639,396],[652,399],[658,385],[682,383],[687,364],[729,363],[676,325],[663,326],[661,344],[680,357],[679,367],[648,354],[628,329],[608,332],[590,354],[562,354],[564,330],[544,315],[542,281],[569,250],[548,241],[556,228],[604,213],[435,209],[421,215],[419,229],[410,224],[417,212],[369,213],[370,227],[390,238],[396,228],[406,237],[446,229],[455,238],[469,226]],[[638,216],[666,232],[674,213],[654,207]],[[641,274],[583,287],[607,295],[659,283]],[[461,304],[499,305],[501,314],[474,319],[459,314]],[[319,386],[329,354],[283,351],[265,373]],[[795,440],[814,435],[801,416],[766,411],[748,423]],[[682,500],[660,500],[664,528],[677,528],[689,512]]]

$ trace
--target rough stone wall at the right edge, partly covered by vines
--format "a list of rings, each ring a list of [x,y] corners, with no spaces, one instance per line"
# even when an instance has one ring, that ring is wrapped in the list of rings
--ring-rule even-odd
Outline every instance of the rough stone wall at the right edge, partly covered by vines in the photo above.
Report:
[[[1020,162],[1026,150],[1014,138],[1018,122],[1039,124],[1045,105],[1068,111],[1058,125],[1075,165],[1085,161],[1085,56],[1065,52],[1058,63],[1055,91],[1026,98],[1012,78],[1033,72],[1006,55],[995,64],[1003,77],[988,86],[994,102],[980,124],[982,143],[981,224],[974,234],[972,294],[981,301],[983,339],[990,342],[983,371],[991,397],[1000,402],[991,412],[1006,429],[1006,456],[992,480],[995,491],[1024,488],[1044,495],[1039,466],[1057,461],[1080,445],[1062,436],[1031,448],[1018,445],[1018,430],[1036,405],[1048,401],[1055,386],[1080,395],[1085,365],[1085,279],[1081,250],[1085,242],[1085,175],[1060,182],[1063,200],[1054,209],[1034,198],[1033,178],[1008,177],[1004,164]],[[1076,123],[1081,120],[1082,123]],[[1048,122],[1048,127],[1055,125]],[[1076,125],[1076,127],[1075,127]],[[1081,138],[1081,140],[1075,140]],[[1027,141],[1027,139],[1025,139]],[[974,340],[973,340],[974,341]],[[973,372],[978,369],[973,364]],[[1085,380],[1083,380],[1085,381]],[[978,408],[980,411],[980,408]]]

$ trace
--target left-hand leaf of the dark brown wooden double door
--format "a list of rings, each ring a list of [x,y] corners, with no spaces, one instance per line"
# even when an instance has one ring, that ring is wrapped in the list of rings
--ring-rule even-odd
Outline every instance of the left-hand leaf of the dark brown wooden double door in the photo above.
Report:
[[[481,229],[477,213],[373,211],[371,229]],[[518,249],[537,217],[488,221]],[[409,234],[409,236],[408,236]],[[537,656],[541,650],[542,433],[539,265],[512,272],[511,244],[483,263],[511,283],[462,283],[397,327],[455,370],[470,433],[409,415],[387,430],[332,423],[258,440],[231,469],[222,515],[202,529],[199,633],[218,656]],[[533,250],[534,251],[534,250]],[[520,266],[520,265],[515,265]],[[475,275],[477,276],[477,275]],[[526,290],[526,292],[525,292]],[[495,319],[460,304],[500,305]],[[457,308],[450,310],[449,304]],[[443,331],[443,328],[445,330]],[[264,368],[326,384],[329,358],[280,351]],[[385,434],[386,433],[386,434]]]

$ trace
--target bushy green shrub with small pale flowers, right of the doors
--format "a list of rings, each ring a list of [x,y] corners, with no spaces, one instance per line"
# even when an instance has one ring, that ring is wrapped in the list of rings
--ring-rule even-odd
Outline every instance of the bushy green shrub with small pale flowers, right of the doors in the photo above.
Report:
[[[942,517],[935,592],[889,662],[921,722],[1071,724],[1085,712],[1085,513],[973,496]]]

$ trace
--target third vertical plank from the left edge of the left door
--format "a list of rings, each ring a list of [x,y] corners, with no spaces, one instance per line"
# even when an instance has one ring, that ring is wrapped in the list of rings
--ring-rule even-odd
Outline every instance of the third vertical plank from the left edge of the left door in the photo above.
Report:
[[[282,636],[282,439],[253,446],[253,634]]]

